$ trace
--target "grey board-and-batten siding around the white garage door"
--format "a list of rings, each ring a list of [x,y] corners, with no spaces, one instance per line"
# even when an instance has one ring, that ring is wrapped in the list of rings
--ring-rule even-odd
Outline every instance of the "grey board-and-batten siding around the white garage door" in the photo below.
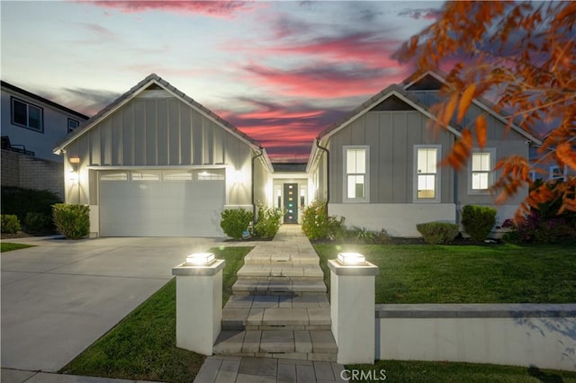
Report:
[[[67,202],[97,203],[97,169],[221,165],[250,179],[252,148],[218,123],[167,92],[142,92],[66,148],[79,157],[79,184],[67,182]],[[88,166],[93,166],[88,170]],[[249,186],[228,184],[228,204],[250,204]],[[249,183],[249,182],[248,182]]]

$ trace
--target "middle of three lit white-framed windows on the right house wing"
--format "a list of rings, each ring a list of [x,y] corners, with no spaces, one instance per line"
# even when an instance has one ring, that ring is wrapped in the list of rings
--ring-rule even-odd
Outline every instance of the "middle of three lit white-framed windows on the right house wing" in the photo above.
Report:
[[[440,147],[415,147],[416,156],[416,198],[419,201],[437,202],[440,200],[438,158]]]

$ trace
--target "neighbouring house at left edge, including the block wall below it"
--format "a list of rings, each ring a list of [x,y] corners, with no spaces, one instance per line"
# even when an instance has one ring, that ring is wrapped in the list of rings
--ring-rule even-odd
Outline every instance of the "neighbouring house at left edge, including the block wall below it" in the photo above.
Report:
[[[2,185],[63,196],[62,158],[52,148],[88,117],[5,81],[0,102]]]

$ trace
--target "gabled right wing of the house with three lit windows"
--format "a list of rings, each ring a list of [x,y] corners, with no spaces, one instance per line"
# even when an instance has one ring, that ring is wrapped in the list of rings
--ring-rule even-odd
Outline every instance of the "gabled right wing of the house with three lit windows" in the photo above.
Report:
[[[330,215],[348,226],[386,229],[392,236],[419,236],[422,222],[460,222],[464,205],[493,205],[489,191],[499,176],[494,166],[505,156],[528,156],[541,142],[516,125],[504,134],[506,120],[488,102],[474,100],[463,125],[481,113],[488,122],[484,148],[474,148],[460,172],[440,162],[461,137],[452,121],[434,134],[430,106],[439,100],[442,76],[427,72],[390,85],[345,120],[320,133],[307,171],[315,198],[328,200]],[[527,191],[526,191],[527,192]],[[498,209],[497,222],[511,218],[520,193]]]

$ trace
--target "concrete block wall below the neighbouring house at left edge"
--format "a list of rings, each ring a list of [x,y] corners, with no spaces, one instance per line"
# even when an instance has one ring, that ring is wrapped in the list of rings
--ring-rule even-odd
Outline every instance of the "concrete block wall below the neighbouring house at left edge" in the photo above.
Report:
[[[64,199],[64,166],[34,156],[2,150],[2,185],[48,190]]]

